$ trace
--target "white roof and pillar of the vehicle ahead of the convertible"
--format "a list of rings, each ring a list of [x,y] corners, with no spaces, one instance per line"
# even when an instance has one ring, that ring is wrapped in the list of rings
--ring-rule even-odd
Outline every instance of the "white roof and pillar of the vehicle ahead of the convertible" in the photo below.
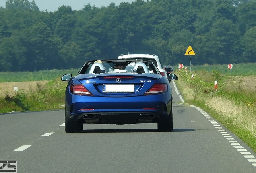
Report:
[[[157,66],[158,70],[161,72],[162,76],[167,76],[167,72],[165,71],[165,69],[163,68],[163,66],[161,65],[161,62],[159,61],[159,58],[157,55],[155,54],[127,54],[127,55],[120,55],[118,56],[118,59],[123,59],[123,58],[144,58],[144,59],[149,59],[152,60],[155,65]]]

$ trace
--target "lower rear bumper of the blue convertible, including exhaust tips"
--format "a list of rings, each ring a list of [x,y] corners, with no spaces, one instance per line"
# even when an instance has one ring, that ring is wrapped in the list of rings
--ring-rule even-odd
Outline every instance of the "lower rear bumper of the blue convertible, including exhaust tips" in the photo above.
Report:
[[[95,98],[92,98],[95,99]],[[66,115],[74,121],[95,124],[157,123],[169,116],[171,99],[163,101],[129,101],[127,98],[106,98],[105,101],[66,103]],[[156,99],[156,98],[155,98]],[[126,100],[126,101],[124,101]],[[165,101],[165,99],[163,99]]]

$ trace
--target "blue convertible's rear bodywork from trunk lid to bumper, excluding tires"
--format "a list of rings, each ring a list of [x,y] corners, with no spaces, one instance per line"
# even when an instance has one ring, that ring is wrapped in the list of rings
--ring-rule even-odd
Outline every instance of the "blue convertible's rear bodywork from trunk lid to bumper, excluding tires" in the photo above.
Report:
[[[169,116],[171,87],[161,83],[161,80],[166,78],[157,81],[153,77],[145,80],[145,77],[140,78],[138,75],[132,78],[125,75],[113,75],[109,78],[108,75],[83,80],[83,76],[86,75],[79,76],[79,79],[73,78],[66,89],[67,111],[73,120],[82,119],[84,123],[111,123],[112,121],[115,124],[124,124],[140,123],[143,117],[148,117],[147,120],[151,117],[150,119],[154,122]],[[120,79],[121,83],[118,84],[117,79]],[[126,85],[134,86],[134,92],[104,92],[108,85],[117,88],[125,88]],[[120,115],[118,119],[116,115]],[[111,119],[111,116],[114,119]],[[132,120],[131,117],[133,117]],[[127,119],[129,119],[128,122],[126,122]]]

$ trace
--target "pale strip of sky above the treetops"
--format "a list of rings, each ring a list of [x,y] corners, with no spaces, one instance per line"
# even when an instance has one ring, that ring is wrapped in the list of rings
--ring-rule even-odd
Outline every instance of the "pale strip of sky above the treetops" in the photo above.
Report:
[[[33,0],[29,0],[32,2]],[[40,11],[47,10],[48,12],[57,11],[62,5],[71,6],[72,10],[81,10],[84,5],[88,3],[91,6],[96,6],[101,8],[102,6],[108,7],[110,3],[114,2],[116,6],[119,6],[121,2],[132,3],[136,0],[35,0]],[[145,0],[146,1],[146,0]],[[0,0],[0,6],[5,8],[6,0]]]

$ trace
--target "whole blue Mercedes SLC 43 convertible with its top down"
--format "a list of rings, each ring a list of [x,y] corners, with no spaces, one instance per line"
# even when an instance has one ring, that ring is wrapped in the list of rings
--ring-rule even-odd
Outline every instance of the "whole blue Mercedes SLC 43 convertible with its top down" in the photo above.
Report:
[[[78,75],[65,74],[65,131],[79,132],[83,124],[157,123],[172,131],[171,80],[152,61],[143,59],[93,60]],[[86,127],[86,126],[85,126]]]

